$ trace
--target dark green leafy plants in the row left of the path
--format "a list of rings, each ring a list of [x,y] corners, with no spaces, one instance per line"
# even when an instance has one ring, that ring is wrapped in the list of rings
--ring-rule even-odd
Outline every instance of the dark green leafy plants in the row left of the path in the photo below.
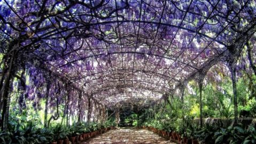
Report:
[[[70,126],[53,124],[49,128],[40,128],[33,122],[21,125],[11,121],[9,130],[6,132],[0,131],[0,143],[49,143],[111,126],[114,126],[113,119],[104,123],[81,122],[73,123]]]

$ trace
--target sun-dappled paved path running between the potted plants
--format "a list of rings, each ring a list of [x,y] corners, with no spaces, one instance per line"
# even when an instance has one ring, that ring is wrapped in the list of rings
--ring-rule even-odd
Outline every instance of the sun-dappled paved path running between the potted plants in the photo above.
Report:
[[[94,138],[87,140],[83,144],[100,144],[100,143],[172,143],[169,140],[160,137],[159,135],[144,129],[121,128],[110,130],[106,133],[97,135]]]

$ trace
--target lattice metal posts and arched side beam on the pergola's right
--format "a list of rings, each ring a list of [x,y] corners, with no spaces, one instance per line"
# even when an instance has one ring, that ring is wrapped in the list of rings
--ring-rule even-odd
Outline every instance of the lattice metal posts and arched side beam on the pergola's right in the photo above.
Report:
[[[203,80],[207,73],[207,71],[216,63],[219,61],[224,61],[227,63],[227,66],[230,69],[231,73],[231,80],[232,80],[232,86],[233,86],[233,93],[234,93],[234,115],[235,120],[234,124],[237,124],[238,121],[238,112],[237,112],[237,92],[236,92],[236,64],[238,57],[242,50],[244,49],[248,39],[254,35],[256,31],[256,23],[253,23],[249,30],[246,30],[243,34],[241,34],[240,37],[238,37],[235,40],[235,43],[228,46],[229,49],[227,51],[224,51],[220,57],[216,57],[212,59],[210,62],[207,63],[203,68],[199,69],[195,74],[191,75],[186,79],[186,81],[189,81],[191,78],[196,78],[199,84],[199,92],[200,92],[200,125],[203,124],[203,116],[202,116],[202,103],[201,103],[201,91],[203,87]],[[179,89],[183,84],[179,84],[175,87],[175,89]]]

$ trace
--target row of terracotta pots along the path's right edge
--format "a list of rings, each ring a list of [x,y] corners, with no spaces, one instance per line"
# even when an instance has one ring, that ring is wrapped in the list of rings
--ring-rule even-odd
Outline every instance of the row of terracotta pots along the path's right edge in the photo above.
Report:
[[[176,132],[166,132],[164,130],[158,130],[152,126],[142,126],[141,128],[148,129],[154,133],[157,133],[158,135],[161,135],[162,137],[175,140],[179,143],[198,144],[197,139],[190,139],[190,138],[186,138],[186,137],[181,138],[181,135]]]

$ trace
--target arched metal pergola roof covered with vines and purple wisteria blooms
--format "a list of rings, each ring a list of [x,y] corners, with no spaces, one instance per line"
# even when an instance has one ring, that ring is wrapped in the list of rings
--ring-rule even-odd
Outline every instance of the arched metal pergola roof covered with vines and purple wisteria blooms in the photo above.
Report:
[[[231,71],[237,121],[236,62],[256,31],[255,14],[255,0],[2,0],[2,125],[10,83],[25,73],[37,88],[23,93],[38,97],[45,87],[46,106],[53,93],[68,101],[67,116],[79,108],[80,119],[92,103],[100,110],[149,106],[182,92],[190,79],[201,97],[204,76],[218,62]]]

